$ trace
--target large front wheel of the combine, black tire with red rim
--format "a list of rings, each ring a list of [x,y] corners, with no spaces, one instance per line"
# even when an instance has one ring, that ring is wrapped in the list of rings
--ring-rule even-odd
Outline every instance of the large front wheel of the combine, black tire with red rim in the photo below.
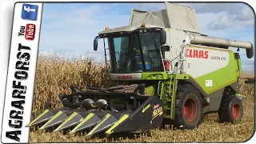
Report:
[[[180,129],[194,129],[202,123],[202,99],[194,86],[178,86],[173,122]]]

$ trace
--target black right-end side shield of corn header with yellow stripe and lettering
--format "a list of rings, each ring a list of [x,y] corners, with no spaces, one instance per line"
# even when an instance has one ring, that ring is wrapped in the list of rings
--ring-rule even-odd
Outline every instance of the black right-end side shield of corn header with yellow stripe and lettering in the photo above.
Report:
[[[162,126],[163,102],[157,97],[151,96],[142,105],[138,106],[132,114],[124,114],[111,126],[106,134],[118,132],[142,132]]]

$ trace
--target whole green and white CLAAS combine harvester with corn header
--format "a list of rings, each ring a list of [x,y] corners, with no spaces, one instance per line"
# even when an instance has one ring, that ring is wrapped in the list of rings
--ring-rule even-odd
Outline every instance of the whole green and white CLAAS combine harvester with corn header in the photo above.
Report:
[[[252,44],[201,34],[194,9],[165,5],[153,12],[132,9],[128,26],[106,27],[94,39],[94,50],[104,39],[108,78],[126,85],[70,86],[72,94],[59,95],[62,108],[45,110],[27,126],[109,135],[141,133],[162,122],[194,129],[208,113],[218,113],[220,122],[241,121],[242,62],[230,47],[252,58]]]

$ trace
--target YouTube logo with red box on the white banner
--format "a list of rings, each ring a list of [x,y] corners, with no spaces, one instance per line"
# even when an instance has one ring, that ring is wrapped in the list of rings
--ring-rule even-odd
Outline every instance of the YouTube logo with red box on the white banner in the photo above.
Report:
[[[26,26],[21,26],[18,36],[25,36],[27,40],[33,40],[35,34],[35,25],[34,24],[26,24]]]

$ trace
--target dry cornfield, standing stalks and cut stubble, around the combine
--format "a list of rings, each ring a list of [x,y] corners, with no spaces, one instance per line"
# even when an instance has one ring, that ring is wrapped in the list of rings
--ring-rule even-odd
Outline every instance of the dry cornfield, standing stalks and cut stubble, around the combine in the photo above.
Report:
[[[106,81],[104,66],[87,59],[67,59],[39,57],[34,89],[33,116],[42,110],[62,107],[58,94],[69,94],[70,85],[115,86]],[[253,73],[242,77],[254,78]],[[86,138],[78,134],[49,133],[30,130],[30,142],[245,142],[254,134],[254,84],[242,80],[241,94],[247,96],[243,101],[244,115],[237,124],[219,123],[218,114],[207,114],[204,122],[196,130],[173,130],[166,126],[161,130],[150,130],[145,134],[120,134],[106,138],[98,135]]]

